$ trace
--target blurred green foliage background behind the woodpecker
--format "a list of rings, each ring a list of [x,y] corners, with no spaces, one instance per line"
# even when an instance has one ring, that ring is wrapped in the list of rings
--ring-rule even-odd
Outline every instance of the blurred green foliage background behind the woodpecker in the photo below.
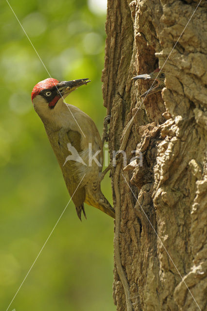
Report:
[[[90,78],[75,104],[102,130],[101,92],[106,0],[11,0],[14,12],[53,78]],[[64,180],[31,103],[48,78],[5,0],[0,3],[0,310],[6,310],[69,201]],[[102,190],[112,203],[109,176]],[[115,310],[113,220],[70,203],[9,311]]]

